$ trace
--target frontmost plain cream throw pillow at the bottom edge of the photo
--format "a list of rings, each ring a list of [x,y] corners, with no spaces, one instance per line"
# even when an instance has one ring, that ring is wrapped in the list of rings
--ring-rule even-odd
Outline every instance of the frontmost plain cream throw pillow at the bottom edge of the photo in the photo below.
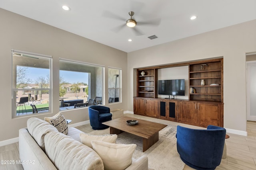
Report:
[[[132,164],[132,154],[136,144],[115,144],[91,141],[92,148],[102,158],[105,170],[124,170]]]

